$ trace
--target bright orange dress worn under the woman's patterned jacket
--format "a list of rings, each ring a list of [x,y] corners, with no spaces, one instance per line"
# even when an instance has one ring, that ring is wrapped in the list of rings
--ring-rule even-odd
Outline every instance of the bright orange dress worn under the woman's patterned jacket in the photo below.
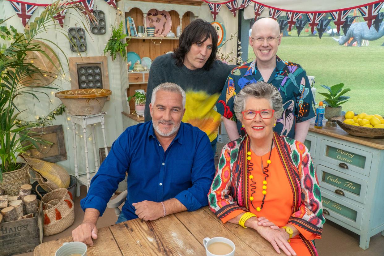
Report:
[[[268,167],[268,175],[269,177],[266,178],[267,184],[266,184],[266,196],[264,200],[263,209],[261,211],[257,211],[256,207],[261,207],[262,200],[263,200],[263,180],[265,175],[262,172],[262,165],[261,161],[263,160],[263,166],[266,167],[268,164],[266,163],[266,160],[268,160],[269,152],[268,154],[265,154],[263,156],[255,155],[255,153],[251,150],[251,164],[253,164],[253,170],[251,170],[248,173],[249,175],[253,175],[252,181],[249,180],[248,185],[248,192],[249,195],[251,195],[254,199],[252,201],[252,204],[250,204],[250,211],[254,213],[258,217],[265,217],[268,220],[275,223],[276,226],[282,227],[285,226],[288,222],[288,219],[291,216],[292,208],[293,208],[293,193],[292,189],[290,187],[290,183],[288,182],[288,177],[286,176],[285,170],[283,168],[283,164],[280,161],[278,152],[276,150],[276,147],[272,149],[271,153],[271,164]],[[256,189],[252,188],[253,182],[256,182]],[[252,191],[255,192],[253,192]],[[225,216],[223,218],[223,222],[226,222],[240,213],[244,211],[242,210],[236,210],[233,211],[228,216]],[[308,240],[314,239],[316,235],[313,235],[309,233],[308,231],[304,230],[303,228],[300,228],[299,226],[294,225],[298,231]],[[305,246],[303,241],[299,236],[295,236],[294,238],[290,239],[291,246],[295,250],[296,254],[299,256],[311,256],[310,252],[308,251],[308,248]]]

